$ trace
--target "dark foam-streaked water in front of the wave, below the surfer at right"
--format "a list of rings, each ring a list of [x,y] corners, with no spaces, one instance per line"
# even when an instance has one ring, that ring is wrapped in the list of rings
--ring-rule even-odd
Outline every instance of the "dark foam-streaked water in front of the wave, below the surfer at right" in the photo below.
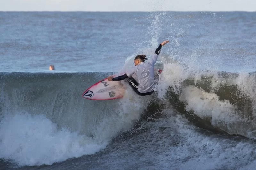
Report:
[[[146,132],[118,143],[117,148],[123,149],[128,144],[131,149],[113,150],[109,156],[111,163],[122,168],[118,163],[129,159],[132,160],[129,167],[138,162],[153,162],[147,164],[148,169],[236,169],[247,165],[255,156],[255,144],[250,140],[204,133],[172,109],[162,113],[170,117],[147,122]]]

